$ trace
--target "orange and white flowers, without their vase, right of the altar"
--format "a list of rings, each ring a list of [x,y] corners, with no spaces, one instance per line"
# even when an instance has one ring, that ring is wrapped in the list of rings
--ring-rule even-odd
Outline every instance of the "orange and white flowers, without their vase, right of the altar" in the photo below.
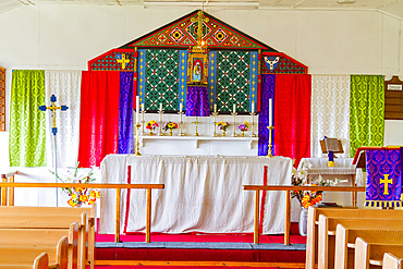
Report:
[[[307,183],[307,171],[306,167],[302,168],[301,170],[296,170],[293,168],[293,173],[291,175],[291,183],[294,186],[303,186],[303,185],[310,185],[310,186],[334,186],[339,183],[340,180],[335,179],[332,181],[323,180],[320,175],[317,183]],[[322,193],[323,191],[319,192],[310,192],[310,191],[298,191],[292,192],[291,197],[296,198],[303,208],[308,208],[319,204],[322,200]]]

